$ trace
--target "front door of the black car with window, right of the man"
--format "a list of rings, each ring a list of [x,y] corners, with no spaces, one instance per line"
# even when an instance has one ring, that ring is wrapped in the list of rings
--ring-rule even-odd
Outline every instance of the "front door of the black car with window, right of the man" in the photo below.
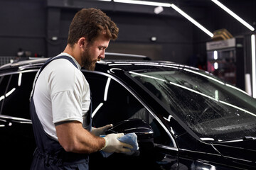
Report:
[[[92,123],[98,128],[123,120],[139,118],[154,130],[154,146],[139,144],[139,152],[104,158],[100,152],[90,155],[90,169],[177,169],[174,141],[156,116],[120,81],[107,74],[86,72],[92,94]]]

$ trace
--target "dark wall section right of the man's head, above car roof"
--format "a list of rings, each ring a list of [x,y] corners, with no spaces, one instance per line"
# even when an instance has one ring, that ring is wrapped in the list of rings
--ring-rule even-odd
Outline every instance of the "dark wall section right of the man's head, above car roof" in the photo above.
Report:
[[[186,63],[193,52],[192,26],[186,21],[126,13],[112,16],[112,19],[117,22],[120,31],[116,43],[109,49],[111,51],[137,53],[154,60],[179,63]],[[152,42],[151,37],[156,37],[156,42]]]

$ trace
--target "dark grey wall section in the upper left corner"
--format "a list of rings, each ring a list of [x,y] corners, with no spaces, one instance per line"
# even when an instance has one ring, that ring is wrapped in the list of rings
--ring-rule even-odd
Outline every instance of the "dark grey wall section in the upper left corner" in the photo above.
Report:
[[[46,8],[43,0],[0,1],[0,56],[18,48],[46,54]]]

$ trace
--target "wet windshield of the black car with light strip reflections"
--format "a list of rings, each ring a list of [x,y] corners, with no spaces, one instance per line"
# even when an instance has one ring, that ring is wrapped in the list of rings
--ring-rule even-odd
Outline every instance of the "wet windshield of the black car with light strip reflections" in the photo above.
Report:
[[[191,68],[146,69],[129,74],[201,140],[255,136],[256,101],[235,86]]]

